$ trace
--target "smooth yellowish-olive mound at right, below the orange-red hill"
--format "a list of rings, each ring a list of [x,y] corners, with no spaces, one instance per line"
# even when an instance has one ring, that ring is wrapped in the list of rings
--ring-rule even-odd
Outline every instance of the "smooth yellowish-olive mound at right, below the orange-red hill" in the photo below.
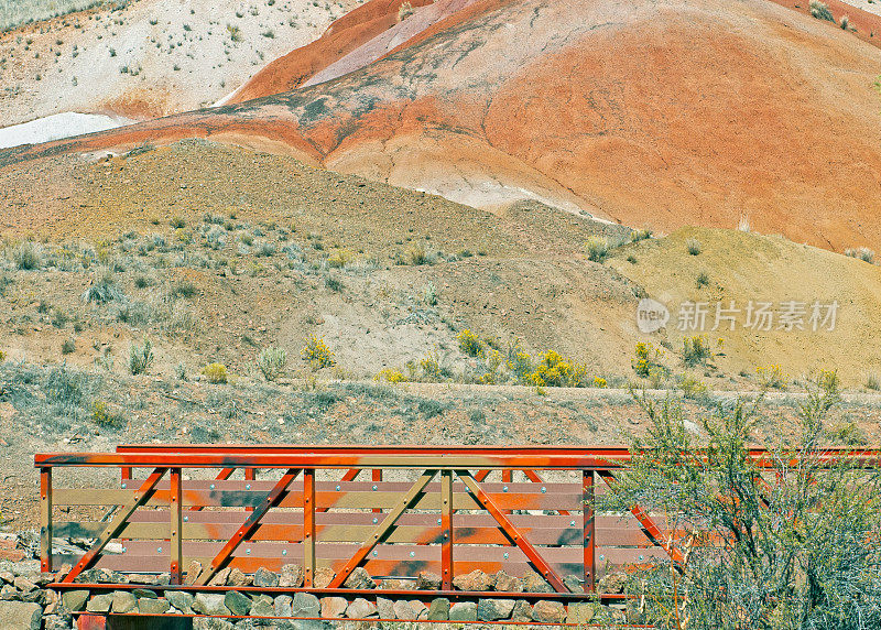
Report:
[[[689,239],[700,243],[699,254],[688,253]],[[757,367],[776,363],[791,378],[822,368],[840,369],[848,382],[864,383],[870,373],[881,372],[877,334],[881,269],[874,264],[781,237],[705,228],[685,228],[666,238],[622,247],[607,264],[671,311],[666,329],[643,339],[682,348],[683,337],[703,334],[718,352],[714,362],[726,373],[754,374]],[[677,329],[677,315],[686,302],[707,305],[703,332]],[[837,303],[834,324],[820,321],[815,329],[811,321],[815,302],[823,319],[827,306]],[[772,305],[770,329],[763,323],[746,326],[750,303],[753,323],[759,322],[755,313],[762,303]],[[795,303],[792,312],[798,321],[792,326],[780,317],[790,303]],[[722,312],[735,317],[733,330],[726,318],[713,330],[717,305],[737,311]],[[716,344],[719,338],[721,347]]]

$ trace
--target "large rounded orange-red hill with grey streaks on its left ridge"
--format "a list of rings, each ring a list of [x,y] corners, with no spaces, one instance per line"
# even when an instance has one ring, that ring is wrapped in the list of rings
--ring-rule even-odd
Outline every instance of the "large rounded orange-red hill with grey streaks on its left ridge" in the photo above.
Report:
[[[747,214],[878,249],[880,66],[769,2],[485,0],[320,85],[0,161],[226,137],[479,207],[532,197],[660,230]]]

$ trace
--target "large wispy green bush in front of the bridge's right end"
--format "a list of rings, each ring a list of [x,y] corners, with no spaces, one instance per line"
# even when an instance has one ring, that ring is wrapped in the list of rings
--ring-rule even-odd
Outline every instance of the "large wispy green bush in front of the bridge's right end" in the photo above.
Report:
[[[811,384],[797,434],[751,456],[761,401],[720,404],[689,431],[682,404],[637,400],[649,416],[597,511],[664,514],[682,555],[635,565],[626,594],[655,628],[862,629],[881,619],[881,471],[828,459],[835,378]],[[766,434],[765,434],[766,435]],[[686,621],[687,620],[687,621]]]

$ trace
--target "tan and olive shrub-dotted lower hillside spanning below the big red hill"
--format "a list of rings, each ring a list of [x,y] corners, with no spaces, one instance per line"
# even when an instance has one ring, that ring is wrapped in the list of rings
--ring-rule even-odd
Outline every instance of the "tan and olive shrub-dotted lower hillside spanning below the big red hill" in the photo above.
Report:
[[[162,339],[184,318],[196,325],[188,340],[168,335],[159,354],[166,373],[178,361],[197,370],[214,360],[247,371],[273,345],[305,368],[300,350],[317,335],[346,378],[406,373],[409,361],[436,352],[449,378],[468,382],[486,366],[461,354],[456,335],[466,328],[503,354],[520,338],[536,359],[553,349],[585,363],[590,379],[619,384],[635,377],[638,340],[664,347],[668,383],[693,371],[716,388],[752,388],[755,368],[772,363],[792,378],[838,369],[849,387],[881,373],[881,270],[780,237],[694,228],[621,247],[599,263],[587,259],[585,241],[616,242],[626,230],[537,203],[493,214],[222,144],[28,164],[0,169],[4,264],[14,272],[15,243],[28,236],[66,246],[46,252],[48,269],[14,272],[4,287],[3,349],[17,360],[51,361],[70,336],[72,365],[95,363],[109,343],[124,371],[130,341]],[[700,242],[698,256],[686,251],[688,238]],[[84,302],[107,269],[117,270],[126,303]],[[198,295],[170,302],[177,283]],[[637,304],[646,295],[668,304],[666,330],[639,333]],[[684,300],[713,309],[705,328],[675,329]],[[741,309],[749,301],[838,301],[839,312],[831,332],[813,330],[809,314],[801,332],[776,322],[768,332],[742,323],[713,332],[716,303],[730,300]],[[67,314],[66,328],[52,324],[55,308]],[[72,322],[89,324],[70,334]],[[686,334],[704,335],[717,356],[686,366]]]

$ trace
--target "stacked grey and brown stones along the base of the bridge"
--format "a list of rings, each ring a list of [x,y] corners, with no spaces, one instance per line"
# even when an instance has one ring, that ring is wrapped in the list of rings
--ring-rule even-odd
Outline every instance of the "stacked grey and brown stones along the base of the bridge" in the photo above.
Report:
[[[10,541],[10,542],[7,542]],[[487,574],[474,571],[458,575],[453,584],[457,590],[486,593],[477,601],[450,601],[446,597],[417,599],[413,597],[383,596],[384,590],[439,590],[439,575],[422,572],[416,579],[385,579],[380,585],[363,568],[356,568],[346,579],[345,587],[359,590],[373,590],[374,595],[362,593],[350,597],[339,595],[318,597],[309,593],[278,595],[272,597],[253,590],[240,590],[244,587],[258,588],[301,588],[304,583],[303,567],[289,564],[280,572],[265,568],[253,575],[246,575],[237,568],[225,568],[210,580],[210,586],[229,587],[228,590],[191,594],[174,588],[165,589],[171,576],[165,574],[124,574],[102,568],[83,572],[76,583],[127,585],[128,588],[116,590],[93,590],[74,588],[57,593],[45,588],[50,583],[59,579],[69,571],[63,566],[56,575],[41,574],[40,563],[33,557],[35,541],[20,536],[0,535],[0,551],[17,552],[0,558],[0,620],[3,629],[11,630],[67,630],[74,627],[74,615],[77,612],[128,613],[128,615],[210,615],[250,618],[306,617],[325,619],[396,619],[402,621],[536,621],[587,623],[599,608],[595,604],[570,604],[543,599],[530,602],[516,597],[493,597],[494,593],[551,593],[551,586],[537,574],[525,577],[513,577],[500,571]],[[81,546],[80,546],[81,544]],[[88,541],[53,541],[53,546],[70,545],[80,550],[88,546]],[[0,554],[1,555],[1,554]],[[10,557],[23,557],[10,562]],[[202,565],[193,562],[186,573],[186,582],[195,580],[202,572]],[[314,584],[317,588],[326,587],[335,574],[328,568],[316,571]],[[608,576],[601,587],[605,590],[623,585],[621,576]],[[580,590],[577,580],[567,582],[570,590]],[[265,624],[265,622],[263,622]],[[324,627],[323,622],[314,622],[315,628]],[[274,621],[272,626],[293,628],[291,622]],[[253,621],[221,619],[197,619],[196,628],[241,628],[253,627]]]

